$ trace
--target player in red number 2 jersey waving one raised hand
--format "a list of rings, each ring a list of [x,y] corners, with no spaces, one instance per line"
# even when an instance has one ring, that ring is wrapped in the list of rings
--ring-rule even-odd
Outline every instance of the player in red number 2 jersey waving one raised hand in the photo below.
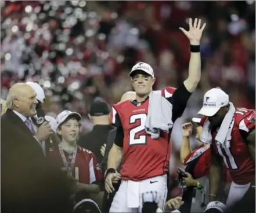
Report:
[[[192,25],[189,20],[189,31],[181,30],[190,40],[189,77],[183,84],[174,89],[165,87],[159,96],[166,98],[172,105],[172,122],[180,117],[186,103],[196,89],[201,75],[200,39],[205,24],[197,19]],[[161,195],[160,208],[163,209],[167,195],[167,171],[171,154],[170,134],[161,131],[157,139],[146,133],[145,124],[155,78],[152,67],[146,63],[138,63],[130,72],[132,85],[136,92],[136,100],[124,101],[113,106],[112,123],[116,124],[117,134],[109,152],[107,171],[105,172],[105,188],[113,192],[113,182],[122,179],[110,212],[141,212],[142,193],[156,191]],[[165,101],[165,100],[164,100]],[[168,102],[169,101],[169,102]],[[163,109],[159,108],[159,111]],[[158,113],[157,111],[155,113]],[[122,160],[121,175],[116,172]]]

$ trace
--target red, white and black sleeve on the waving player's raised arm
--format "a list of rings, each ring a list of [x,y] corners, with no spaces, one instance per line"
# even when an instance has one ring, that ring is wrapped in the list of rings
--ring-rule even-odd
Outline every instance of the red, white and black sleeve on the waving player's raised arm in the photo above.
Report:
[[[172,104],[172,122],[182,116],[187,102],[192,93],[190,93],[184,83],[177,89],[174,87],[165,87],[162,90],[162,96]]]

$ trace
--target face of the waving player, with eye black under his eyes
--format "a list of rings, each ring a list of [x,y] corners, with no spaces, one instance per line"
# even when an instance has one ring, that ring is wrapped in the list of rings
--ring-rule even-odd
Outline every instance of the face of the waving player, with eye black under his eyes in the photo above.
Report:
[[[132,76],[132,86],[134,86],[134,90],[138,96],[146,96],[152,91],[155,80],[155,78],[152,78],[146,72],[136,71]]]

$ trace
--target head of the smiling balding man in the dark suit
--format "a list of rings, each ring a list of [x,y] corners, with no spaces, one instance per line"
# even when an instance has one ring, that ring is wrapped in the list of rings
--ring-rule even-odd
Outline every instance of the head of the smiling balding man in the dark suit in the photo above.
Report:
[[[37,93],[32,88],[27,88],[14,98],[13,104],[22,115],[27,117],[34,116],[37,114],[35,109],[38,104],[36,96]]]

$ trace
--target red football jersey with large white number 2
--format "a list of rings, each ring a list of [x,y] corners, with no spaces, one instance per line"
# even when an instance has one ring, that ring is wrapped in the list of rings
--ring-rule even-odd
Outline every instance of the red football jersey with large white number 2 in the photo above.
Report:
[[[175,90],[177,94],[179,91],[182,91],[183,94],[183,88],[185,87],[183,86],[182,90],[176,90],[172,87],[165,87],[161,91],[162,96],[167,98],[173,106],[176,105],[177,107],[177,105],[179,105],[179,112],[176,111],[175,115],[172,113],[173,122],[175,122],[177,117],[182,115],[186,103],[184,106],[182,101],[176,101],[175,98],[172,100],[172,95],[174,95]],[[186,96],[186,94],[184,94],[184,96]],[[186,101],[183,100],[183,102],[187,102],[189,96]],[[181,104],[179,104],[179,102],[181,102]],[[143,179],[167,174],[171,155],[170,134],[161,131],[159,138],[152,139],[151,135],[146,133],[145,122],[148,107],[149,98],[139,104],[135,104],[135,102],[132,101],[124,101],[114,105],[112,108],[110,115],[111,122],[116,124],[116,120],[120,120],[124,132],[122,142],[122,179],[141,181]],[[172,112],[174,112],[174,108]]]

